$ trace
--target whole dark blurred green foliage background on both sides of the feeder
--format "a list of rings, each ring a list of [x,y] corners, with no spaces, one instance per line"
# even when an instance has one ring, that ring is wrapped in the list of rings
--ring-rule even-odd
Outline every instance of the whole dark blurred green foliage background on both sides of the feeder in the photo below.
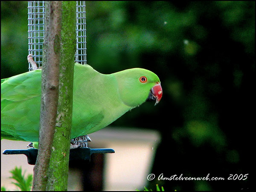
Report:
[[[152,173],[225,177],[158,181],[166,190],[246,189],[255,75],[253,1],[88,1],[87,63],[101,73],[156,73],[161,102],[145,103],[113,126],[160,131]],[[1,1],[1,79],[28,71],[27,2]]]

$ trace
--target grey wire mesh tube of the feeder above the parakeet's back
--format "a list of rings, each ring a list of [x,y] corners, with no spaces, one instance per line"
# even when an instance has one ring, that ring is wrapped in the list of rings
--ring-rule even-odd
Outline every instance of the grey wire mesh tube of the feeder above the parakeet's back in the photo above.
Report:
[[[28,1],[29,54],[38,67],[42,66],[44,42],[44,1]],[[76,1],[76,54],[75,62],[86,64],[85,1]],[[29,71],[32,66],[29,63]]]

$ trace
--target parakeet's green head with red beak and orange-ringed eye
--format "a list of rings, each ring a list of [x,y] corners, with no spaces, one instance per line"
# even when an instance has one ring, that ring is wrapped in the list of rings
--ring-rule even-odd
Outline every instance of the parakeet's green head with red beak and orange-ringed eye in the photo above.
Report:
[[[145,101],[160,101],[163,90],[158,76],[145,69],[133,68],[113,73],[118,83],[119,95],[122,102],[132,108]]]

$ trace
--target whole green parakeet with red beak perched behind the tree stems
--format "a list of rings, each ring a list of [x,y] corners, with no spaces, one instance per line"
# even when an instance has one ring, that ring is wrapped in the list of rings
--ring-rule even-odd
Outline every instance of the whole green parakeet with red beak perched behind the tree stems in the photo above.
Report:
[[[133,68],[105,75],[74,65],[71,138],[105,128],[147,99],[160,101],[156,74]],[[38,141],[41,69],[1,80],[1,139]]]

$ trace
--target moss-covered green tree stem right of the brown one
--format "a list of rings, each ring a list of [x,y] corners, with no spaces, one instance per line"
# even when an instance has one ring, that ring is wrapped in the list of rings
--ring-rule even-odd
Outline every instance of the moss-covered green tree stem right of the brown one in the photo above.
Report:
[[[67,191],[76,52],[76,1],[62,2],[61,63],[58,111],[47,190]]]

